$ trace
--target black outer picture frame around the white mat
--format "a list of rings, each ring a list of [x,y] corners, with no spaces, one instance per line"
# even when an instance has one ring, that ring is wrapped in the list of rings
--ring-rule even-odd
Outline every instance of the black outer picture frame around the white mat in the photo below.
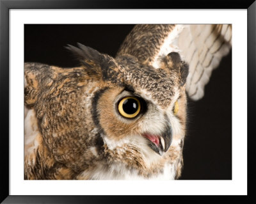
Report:
[[[76,9],[76,8],[242,8],[247,9],[248,19],[248,196],[10,196],[9,195],[9,10],[10,9]],[[25,0],[0,0],[0,115],[1,121],[1,198],[3,203],[106,203],[122,202],[131,203],[134,201],[157,202],[159,199],[169,201],[189,201],[189,203],[227,203],[228,201],[238,201],[239,203],[255,203],[255,166],[253,166],[253,155],[255,154],[253,129],[255,116],[255,68],[256,68],[256,2],[255,0],[194,0],[194,1],[174,1],[169,4],[161,1],[118,1],[118,0],[60,0],[60,1],[25,1]]]

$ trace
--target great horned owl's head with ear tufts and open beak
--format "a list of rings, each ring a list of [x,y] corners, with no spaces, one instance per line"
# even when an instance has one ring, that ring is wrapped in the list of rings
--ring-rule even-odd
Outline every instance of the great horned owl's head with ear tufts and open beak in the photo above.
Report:
[[[130,145],[150,159],[167,152],[173,138],[184,137],[188,65],[177,52],[164,56],[156,69],[134,56],[114,59],[78,45],[67,48],[100,83],[92,100],[92,116],[110,150]]]

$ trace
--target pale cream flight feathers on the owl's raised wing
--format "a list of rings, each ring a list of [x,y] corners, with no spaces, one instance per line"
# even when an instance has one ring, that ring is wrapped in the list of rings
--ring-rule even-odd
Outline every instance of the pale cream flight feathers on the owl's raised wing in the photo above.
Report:
[[[180,54],[189,64],[186,91],[193,100],[204,96],[212,70],[230,51],[231,38],[232,27],[228,24],[193,24],[180,33]]]

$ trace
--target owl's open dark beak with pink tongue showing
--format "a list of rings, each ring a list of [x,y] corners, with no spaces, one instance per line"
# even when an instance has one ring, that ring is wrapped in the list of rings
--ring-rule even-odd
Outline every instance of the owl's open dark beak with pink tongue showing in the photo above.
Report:
[[[159,155],[163,155],[172,144],[172,128],[170,125],[166,126],[166,129],[162,134],[155,135],[150,133],[143,134],[143,137],[148,139],[148,146],[152,148]]]

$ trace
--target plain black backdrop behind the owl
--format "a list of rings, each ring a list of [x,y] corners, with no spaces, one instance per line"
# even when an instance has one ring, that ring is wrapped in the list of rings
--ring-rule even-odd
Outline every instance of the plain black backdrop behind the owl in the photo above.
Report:
[[[24,61],[58,67],[79,63],[65,49],[77,42],[115,56],[134,25],[24,26]],[[188,101],[188,132],[181,180],[232,179],[232,53],[222,59],[202,100]]]

